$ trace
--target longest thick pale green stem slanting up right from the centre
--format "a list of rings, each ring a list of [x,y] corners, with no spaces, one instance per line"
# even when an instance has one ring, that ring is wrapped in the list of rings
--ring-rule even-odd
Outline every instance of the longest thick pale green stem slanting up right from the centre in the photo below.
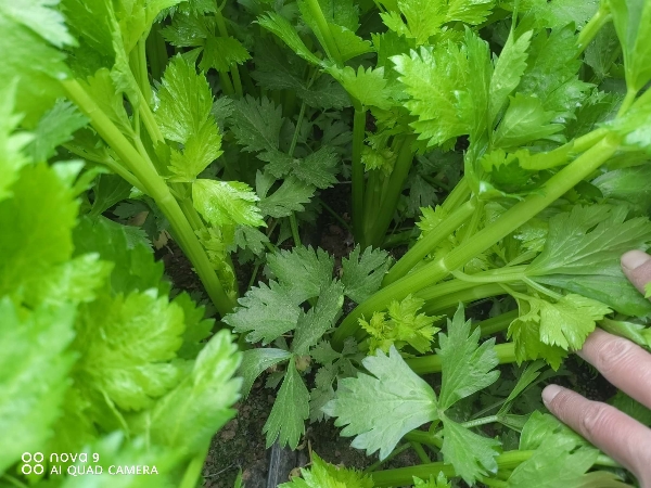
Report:
[[[607,136],[552,176],[541,188],[540,192],[529,195],[523,202],[511,207],[492,224],[477,232],[473,239],[452,249],[441,259],[427,264],[380,290],[344,319],[333,335],[333,347],[341,350],[344,339],[356,333],[359,329],[358,320],[365,314],[369,316],[373,311],[382,310],[391,300],[400,300],[411,293],[416,293],[425,286],[443,280],[451,271],[459,269],[472,258],[509,235],[574,188],[574,185],[588,177],[592,171],[596,171],[617,151],[618,146],[620,139],[613,134]]]

